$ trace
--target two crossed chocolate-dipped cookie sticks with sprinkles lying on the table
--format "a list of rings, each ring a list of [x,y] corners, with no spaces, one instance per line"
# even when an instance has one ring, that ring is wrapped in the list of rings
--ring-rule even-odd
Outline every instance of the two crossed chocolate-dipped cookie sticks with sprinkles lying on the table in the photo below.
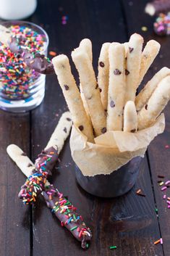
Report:
[[[92,237],[90,228],[85,225],[82,216],[77,213],[76,207],[46,179],[58,160],[59,152],[64,146],[64,141],[67,139],[71,127],[70,113],[65,112],[61,116],[46,148],[35,160],[35,165],[22,152],[22,149],[14,144],[7,147],[7,153],[16,162],[22,173],[27,176],[27,181],[22,186],[19,194],[23,202],[28,205],[35,202],[36,197],[42,194],[46,205],[60,220],[61,226],[65,226],[78,241],[81,241],[82,248],[86,249],[88,248],[88,241]]]

